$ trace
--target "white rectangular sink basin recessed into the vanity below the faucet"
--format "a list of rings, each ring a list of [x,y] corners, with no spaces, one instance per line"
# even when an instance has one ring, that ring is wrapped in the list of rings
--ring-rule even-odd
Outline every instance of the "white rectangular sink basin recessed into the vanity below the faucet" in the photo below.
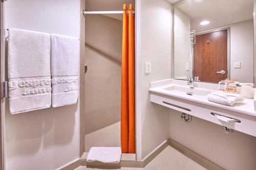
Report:
[[[200,95],[200,96],[205,96],[211,92],[211,91],[207,91],[207,90],[201,90],[201,89],[189,88],[189,87],[181,87],[181,86],[171,86],[171,87],[165,88],[165,90],[172,91],[175,93],[182,93],[182,94],[187,94],[187,95]]]

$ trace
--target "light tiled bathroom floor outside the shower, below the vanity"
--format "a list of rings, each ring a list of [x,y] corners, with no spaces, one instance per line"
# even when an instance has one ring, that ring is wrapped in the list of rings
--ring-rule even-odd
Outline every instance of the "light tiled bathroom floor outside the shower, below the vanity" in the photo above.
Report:
[[[75,170],[100,170],[80,166]],[[172,147],[167,147],[144,168],[121,168],[123,170],[207,170]]]

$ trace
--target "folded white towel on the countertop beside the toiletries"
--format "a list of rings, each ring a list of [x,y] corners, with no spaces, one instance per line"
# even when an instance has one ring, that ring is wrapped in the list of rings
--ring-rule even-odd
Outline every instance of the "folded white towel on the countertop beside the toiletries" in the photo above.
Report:
[[[240,94],[217,91],[208,95],[208,101],[232,106],[234,104],[242,103],[244,98]]]

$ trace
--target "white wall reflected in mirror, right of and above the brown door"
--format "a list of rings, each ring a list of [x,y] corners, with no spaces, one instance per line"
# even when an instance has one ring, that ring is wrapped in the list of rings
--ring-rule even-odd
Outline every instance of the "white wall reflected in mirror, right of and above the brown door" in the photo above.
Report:
[[[242,83],[253,83],[253,19],[230,25],[211,28],[197,33],[230,28],[230,79]],[[234,62],[241,68],[234,68]]]

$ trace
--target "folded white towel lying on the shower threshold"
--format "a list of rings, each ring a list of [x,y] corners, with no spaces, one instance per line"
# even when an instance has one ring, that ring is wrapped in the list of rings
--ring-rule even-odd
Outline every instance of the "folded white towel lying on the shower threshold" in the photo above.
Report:
[[[92,147],[87,155],[88,162],[119,163],[122,151],[120,147]]]

